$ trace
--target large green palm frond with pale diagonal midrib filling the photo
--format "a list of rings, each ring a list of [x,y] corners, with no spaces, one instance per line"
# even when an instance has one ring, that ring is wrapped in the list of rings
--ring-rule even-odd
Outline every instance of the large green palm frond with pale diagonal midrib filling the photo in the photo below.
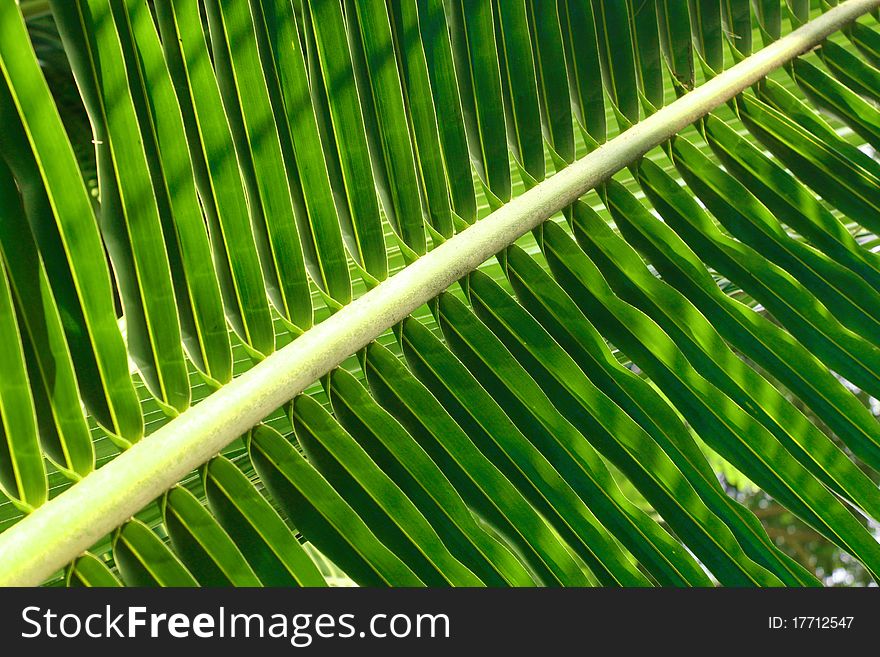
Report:
[[[0,0],[0,583],[822,584],[732,472],[880,577],[823,7]]]

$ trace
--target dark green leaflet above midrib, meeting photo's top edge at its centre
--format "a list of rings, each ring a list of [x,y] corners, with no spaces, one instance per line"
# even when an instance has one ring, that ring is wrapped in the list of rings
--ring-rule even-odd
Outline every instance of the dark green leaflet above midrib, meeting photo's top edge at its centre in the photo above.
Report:
[[[408,0],[404,0],[404,6]],[[466,125],[453,64],[452,43],[442,0],[422,0],[418,8],[419,36],[437,112],[443,163],[452,209],[465,223],[477,219],[477,200],[471,175]],[[439,229],[438,229],[439,230]],[[441,231],[442,232],[442,231]]]

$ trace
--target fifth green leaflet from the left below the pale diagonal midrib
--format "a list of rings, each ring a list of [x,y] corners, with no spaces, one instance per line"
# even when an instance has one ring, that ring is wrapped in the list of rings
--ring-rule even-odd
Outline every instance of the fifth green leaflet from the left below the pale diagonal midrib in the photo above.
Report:
[[[284,436],[258,425],[248,445],[272,497],[310,542],[349,577],[361,586],[423,586]]]

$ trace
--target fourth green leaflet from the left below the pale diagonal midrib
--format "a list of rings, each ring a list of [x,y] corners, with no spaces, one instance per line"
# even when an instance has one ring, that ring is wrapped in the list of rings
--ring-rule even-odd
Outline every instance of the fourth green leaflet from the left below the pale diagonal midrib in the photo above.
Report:
[[[208,507],[264,586],[326,586],[278,512],[231,461],[215,457],[202,480]]]

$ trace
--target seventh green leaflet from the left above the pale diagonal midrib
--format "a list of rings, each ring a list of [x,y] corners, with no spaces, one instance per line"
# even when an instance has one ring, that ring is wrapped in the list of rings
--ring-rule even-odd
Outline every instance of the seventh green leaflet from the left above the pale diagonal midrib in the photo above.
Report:
[[[237,148],[255,179],[256,198],[249,200],[260,206],[251,216],[258,240],[265,240],[261,262],[269,296],[287,323],[302,331],[312,325],[311,295],[253,14],[244,2],[207,0],[205,9],[224,107],[227,115],[240,109],[243,131]]]

